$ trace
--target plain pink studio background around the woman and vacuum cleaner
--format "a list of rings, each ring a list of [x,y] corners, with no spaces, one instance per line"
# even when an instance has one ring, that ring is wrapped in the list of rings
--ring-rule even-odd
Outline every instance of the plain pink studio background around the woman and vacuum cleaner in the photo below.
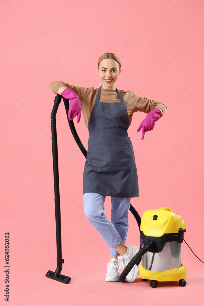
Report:
[[[3,248],[7,231],[9,305],[202,305],[204,266],[185,243],[186,287],[160,282],[153,289],[139,276],[132,283],[104,282],[109,248],[84,215],[85,158],[69,130],[63,103],[56,117],[59,164],[67,158],[59,170],[62,274],[69,275],[71,282],[64,285],[45,274],[56,268],[50,129],[55,95],[48,85],[62,80],[98,88],[97,63],[105,52],[116,53],[121,60],[118,89],[161,101],[168,109],[143,141],[136,130],[145,114],[133,115],[128,134],[133,145],[138,141],[134,152],[140,194],[131,203],[140,216],[148,209],[172,208],[186,224],[184,239],[204,259],[203,2],[3,0],[0,8],[1,305],[7,304]],[[84,34],[88,34],[86,40]],[[19,52],[26,40],[29,44]],[[70,49],[73,53],[57,66]],[[76,118],[74,123],[87,149],[83,116],[79,124]],[[20,155],[26,146],[28,151]],[[106,197],[105,211],[109,217],[110,197]],[[129,225],[126,244],[139,244],[131,213]]]

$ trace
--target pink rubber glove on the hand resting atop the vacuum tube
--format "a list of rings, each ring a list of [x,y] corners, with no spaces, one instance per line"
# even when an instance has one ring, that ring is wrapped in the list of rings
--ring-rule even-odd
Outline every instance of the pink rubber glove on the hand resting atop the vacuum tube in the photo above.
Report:
[[[73,118],[77,115],[76,122],[79,123],[81,118],[81,102],[79,96],[71,88],[66,88],[64,91],[62,91],[61,95],[65,99],[69,99],[69,111],[68,111],[69,120],[73,120]]]

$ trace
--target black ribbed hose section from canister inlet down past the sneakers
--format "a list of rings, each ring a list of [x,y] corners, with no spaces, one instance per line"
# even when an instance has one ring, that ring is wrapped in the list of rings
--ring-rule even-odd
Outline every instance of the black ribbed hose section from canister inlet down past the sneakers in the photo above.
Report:
[[[154,249],[154,244],[149,241],[148,244],[141,248],[141,250],[139,250],[139,252],[137,252],[137,254],[135,254],[135,256],[131,259],[131,261],[128,263],[127,267],[125,267],[125,269],[123,270],[123,272],[121,273],[121,275],[119,276],[119,281],[120,282],[124,282],[126,276],[128,275],[128,273],[132,270],[132,268],[134,267],[134,265],[136,264],[136,266],[138,266],[137,261],[141,258],[142,256],[147,253],[148,251],[151,251]],[[139,261],[139,262],[140,262]]]

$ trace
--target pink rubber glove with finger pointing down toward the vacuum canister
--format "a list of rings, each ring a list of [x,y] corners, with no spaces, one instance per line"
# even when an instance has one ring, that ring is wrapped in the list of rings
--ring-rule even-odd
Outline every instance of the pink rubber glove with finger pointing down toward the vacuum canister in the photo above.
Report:
[[[158,108],[154,108],[153,110],[150,110],[150,112],[147,114],[147,116],[144,118],[144,120],[140,123],[139,128],[137,129],[137,132],[139,132],[142,129],[142,140],[144,139],[144,132],[151,131],[154,128],[155,122],[161,118],[161,110]]]

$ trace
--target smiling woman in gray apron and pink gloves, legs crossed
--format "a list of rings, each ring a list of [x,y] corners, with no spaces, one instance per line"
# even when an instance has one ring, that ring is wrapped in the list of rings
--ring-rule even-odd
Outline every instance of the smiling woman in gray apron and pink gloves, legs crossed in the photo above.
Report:
[[[121,62],[116,54],[107,52],[98,60],[99,88],[80,87],[62,81],[52,82],[49,88],[69,99],[69,119],[81,111],[89,131],[87,160],[83,171],[83,204],[88,220],[110,248],[107,263],[107,282],[119,281],[123,269],[139,251],[137,245],[124,245],[128,232],[130,198],[138,197],[138,177],[128,127],[133,113],[147,114],[137,132],[144,134],[154,128],[166,112],[166,106],[130,90],[118,90],[115,83],[121,74]],[[111,220],[105,215],[104,202],[111,196]],[[118,266],[120,261],[120,268]],[[135,265],[128,273],[127,282],[138,274]]]

